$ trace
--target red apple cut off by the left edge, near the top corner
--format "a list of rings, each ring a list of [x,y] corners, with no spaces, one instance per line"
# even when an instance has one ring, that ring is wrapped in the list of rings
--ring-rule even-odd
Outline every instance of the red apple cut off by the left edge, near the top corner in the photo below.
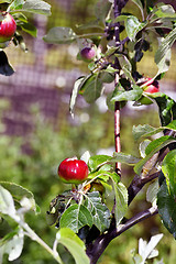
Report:
[[[1,12],[0,16],[2,16],[0,21],[0,43],[4,43],[10,41],[14,35],[16,23],[13,16],[8,12]]]

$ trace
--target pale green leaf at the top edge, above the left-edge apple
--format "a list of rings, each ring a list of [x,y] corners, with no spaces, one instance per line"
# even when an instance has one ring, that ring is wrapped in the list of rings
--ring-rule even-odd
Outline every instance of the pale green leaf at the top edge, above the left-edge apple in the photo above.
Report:
[[[25,0],[22,11],[50,15],[51,4],[42,0]]]

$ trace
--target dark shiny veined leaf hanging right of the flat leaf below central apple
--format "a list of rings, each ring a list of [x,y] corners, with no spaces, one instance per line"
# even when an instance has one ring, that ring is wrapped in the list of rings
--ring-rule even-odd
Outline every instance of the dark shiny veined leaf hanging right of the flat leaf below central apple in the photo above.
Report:
[[[94,224],[103,232],[110,226],[110,211],[102,204],[99,191],[89,193],[86,196],[85,207],[91,212]]]

